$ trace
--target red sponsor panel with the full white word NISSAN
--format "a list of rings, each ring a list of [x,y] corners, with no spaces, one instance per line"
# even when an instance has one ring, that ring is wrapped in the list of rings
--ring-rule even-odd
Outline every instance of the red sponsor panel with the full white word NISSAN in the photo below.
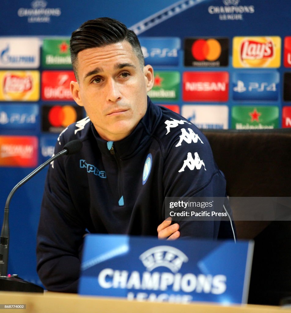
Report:
[[[184,72],[184,101],[228,101],[228,72]]]

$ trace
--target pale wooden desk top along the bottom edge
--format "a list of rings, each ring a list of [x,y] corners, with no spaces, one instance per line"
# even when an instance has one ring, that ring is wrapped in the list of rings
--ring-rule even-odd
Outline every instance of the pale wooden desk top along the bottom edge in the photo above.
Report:
[[[99,298],[45,292],[18,293],[0,292],[0,304],[26,304],[26,310],[8,309],[4,312],[27,313],[271,313],[291,312],[276,306],[234,305],[221,306],[206,303],[175,304],[157,302],[127,301],[113,298]]]

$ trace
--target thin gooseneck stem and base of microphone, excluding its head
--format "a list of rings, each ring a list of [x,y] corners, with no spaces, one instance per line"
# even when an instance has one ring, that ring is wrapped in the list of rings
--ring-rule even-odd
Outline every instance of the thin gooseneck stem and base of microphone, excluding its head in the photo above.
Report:
[[[25,182],[27,182],[30,178],[40,172],[44,167],[46,167],[49,163],[53,162],[58,157],[67,154],[68,150],[64,149],[48,159],[38,168],[36,168],[33,172],[31,172],[28,176],[23,178],[22,181],[18,182],[18,184],[11,190],[6,200],[5,208],[4,208],[4,218],[3,225],[1,230],[0,237],[0,290],[1,291],[24,291],[24,292],[42,292],[43,288],[25,281],[21,279],[18,275],[8,275],[8,253],[9,253],[9,204],[11,198],[15,191],[22,186]]]

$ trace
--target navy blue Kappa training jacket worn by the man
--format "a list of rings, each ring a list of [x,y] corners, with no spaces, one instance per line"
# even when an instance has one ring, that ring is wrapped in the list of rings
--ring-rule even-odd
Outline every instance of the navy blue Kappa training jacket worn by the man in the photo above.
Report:
[[[157,236],[165,197],[225,196],[226,181],[206,137],[149,98],[145,116],[126,138],[112,145],[86,117],[60,134],[55,154],[74,139],[83,142],[81,151],[55,160],[45,183],[37,271],[48,290],[77,292],[87,231]],[[180,238],[233,238],[227,221],[179,224]]]

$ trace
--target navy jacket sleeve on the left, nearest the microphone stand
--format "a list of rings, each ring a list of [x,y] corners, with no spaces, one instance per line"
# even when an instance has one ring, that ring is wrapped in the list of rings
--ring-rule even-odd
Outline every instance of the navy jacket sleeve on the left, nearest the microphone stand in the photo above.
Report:
[[[59,152],[57,143],[55,153]],[[63,156],[49,165],[37,233],[37,272],[50,291],[77,292],[85,233],[72,203]]]

